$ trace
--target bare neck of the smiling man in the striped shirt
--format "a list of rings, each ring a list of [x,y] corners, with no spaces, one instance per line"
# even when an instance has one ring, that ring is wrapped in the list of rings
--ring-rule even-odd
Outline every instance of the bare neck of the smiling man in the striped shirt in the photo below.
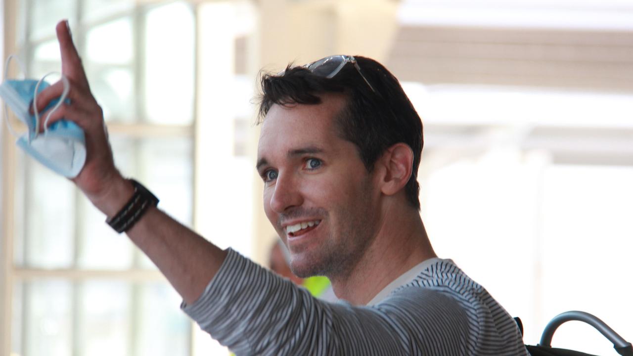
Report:
[[[366,305],[385,286],[420,262],[437,257],[417,211],[388,213],[372,245],[351,270],[329,276],[339,299]]]

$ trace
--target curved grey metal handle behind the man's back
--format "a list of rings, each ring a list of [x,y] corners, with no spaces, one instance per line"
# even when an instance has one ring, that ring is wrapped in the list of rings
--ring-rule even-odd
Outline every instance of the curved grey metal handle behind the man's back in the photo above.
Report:
[[[605,322],[601,321],[594,315],[586,312],[579,312],[577,310],[558,314],[554,317],[554,319],[549,321],[543,331],[539,345],[551,347],[552,337],[554,336],[556,328],[561,326],[563,322],[568,321],[586,322],[596,328],[601,334],[603,334],[603,336],[605,336],[605,338],[611,341],[611,343],[613,343],[613,348],[615,348],[617,353],[622,356],[633,356],[633,345],[631,345],[631,343],[624,340],[622,336],[618,335],[615,331],[613,331],[613,329],[611,329],[611,327],[606,325]]]

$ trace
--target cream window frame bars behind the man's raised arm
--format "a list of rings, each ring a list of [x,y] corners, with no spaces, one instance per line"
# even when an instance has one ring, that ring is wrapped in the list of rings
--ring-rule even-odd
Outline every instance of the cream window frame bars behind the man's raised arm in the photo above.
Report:
[[[113,13],[112,15],[106,16],[104,18],[100,18],[97,21],[91,22],[82,22],[83,18],[81,15],[82,5],[85,0],[75,0],[76,9],[75,15],[71,20],[73,20],[73,25],[76,26],[74,31],[74,40],[77,45],[79,53],[85,53],[85,37],[87,31],[103,23],[108,23],[118,18],[125,18],[126,16],[130,16],[132,18],[132,27],[133,33],[135,34],[134,41],[136,43],[143,43],[144,41],[144,32],[138,31],[137,29],[142,28],[144,23],[143,17],[149,13],[153,8],[158,6],[164,6],[165,4],[169,4],[169,2],[160,2],[156,4],[148,3],[142,5],[134,5],[129,10],[119,11],[117,13]],[[194,29],[196,28],[196,8],[194,4],[191,4],[188,1],[184,1],[183,3],[187,4],[191,8],[191,11],[194,16],[194,23],[192,24]],[[32,4],[31,1],[28,1],[26,5],[25,13],[28,13],[28,6]],[[25,65],[27,67],[27,72],[31,72],[32,65],[32,55],[34,49],[37,45],[42,44],[47,41],[51,41],[55,39],[54,35],[50,35],[47,37],[41,37],[35,41],[29,42],[29,17],[25,16],[24,22],[19,23],[18,21],[18,13],[21,9],[18,6],[17,0],[6,0],[4,1],[4,54],[6,57],[9,53],[17,53],[18,49],[25,59]],[[23,25],[26,30],[26,34],[24,36],[24,43],[21,48],[18,48],[17,42],[17,34],[19,32],[18,25]],[[139,33],[140,32],[140,33]],[[142,68],[141,61],[144,58],[144,46],[134,46],[134,60],[132,62],[132,66],[134,67],[134,87],[135,94],[134,96],[139,96],[144,94],[142,92],[142,87],[144,83],[142,82]],[[192,49],[194,54],[197,52],[197,33],[194,32],[194,48]],[[195,58],[195,55],[194,55]],[[194,63],[195,68],[196,63]],[[196,69],[197,70],[197,69]],[[194,75],[195,79],[195,75]],[[194,80],[194,86],[196,82]],[[143,120],[145,117],[145,113],[143,112],[144,106],[142,103],[137,105],[136,112],[134,114],[135,117],[139,118],[137,122],[132,124],[126,124],[122,122],[106,122],[108,127],[108,132],[111,136],[120,136],[128,139],[160,139],[160,138],[188,138],[192,143],[192,152],[191,152],[191,165],[192,165],[192,193],[195,196],[195,161],[194,156],[196,152],[196,135],[194,135],[194,129],[196,127],[196,91],[194,90],[194,100],[192,101],[192,120],[189,124],[156,124],[147,122]],[[4,116],[4,113],[1,114]],[[18,124],[19,125],[19,124]],[[1,182],[3,186],[3,195],[1,196],[3,205],[0,210],[0,221],[2,224],[2,249],[0,250],[3,255],[3,262],[0,265],[2,272],[2,280],[0,280],[0,285],[3,286],[1,290],[1,301],[2,301],[2,320],[3,322],[3,331],[0,333],[0,353],[5,355],[10,355],[12,352],[12,344],[13,344],[13,297],[14,297],[14,288],[16,283],[29,282],[35,280],[49,280],[49,279],[58,279],[69,281],[72,283],[72,295],[71,298],[73,300],[72,310],[73,310],[73,319],[77,319],[76,315],[80,312],[80,305],[75,303],[75,299],[77,298],[78,288],[81,288],[80,284],[86,281],[99,281],[99,280],[108,280],[108,281],[123,281],[126,283],[130,283],[131,295],[128,296],[130,298],[130,310],[128,315],[128,320],[130,321],[130,325],[134,329],[136,325],[139,324],[137,321],[137,310],[134,308],[134,302],[139,300],[141,296],[141,283],[154,283],[160,282],[168,285],[166,278],[160,273],[160,271],[156,269],[144,269],[139,265],[139,259],[141,258],[141,251],[134,247],[133,252],[133,265],[134,267],[130,267],[129,269],[122,270],[109,270],[109,269],[82,269],[78,267],[78,256],[77,253],[73,256],[72,267],[63,268],[63,269],[44,269],[44,268],[33,268],[33,267],[20,267],[15,263],[15,243],[16,239],[20,238],[16,236],[20,232],[20,227],[16,226],[16,224],[24,223],[25,220],[22,219],[21,222],[17,222],[16,220],[20,220],[20,212],[16,209],[18,205],[20,205],[20,200],[23,198],[20,197],[20,194],[16,194],[16,186],[23,186],[21,181],[23,181],[23,177],[20,175],[24,174],[24,167],[18,167],[18,160],[16,159],[17,150],[15,149],[15,145],[13,144],[12,136],[10,136],[8,130],[0,129],[2,134],[2,149],[1,153],[3,154],[1,159],[1,164],[3,167],[1,174]],[[36,163],[37,164],[37,163]],[[18,184],[19,183],[19,184]],[[69,182],[70,184],[70,182]],[[23,187],[21,188],[23,189]],[[20,189],[18,189],[20,190]],[[75,196],[80,194],[78,189],[75,188]],[[192,199],[192,219],[195,217],[196,205],[195,201]],[[23,206],[23,205],[22,205]],[[195,222],[192,222],[195,223]],[[78,222],[75,221],[75,226],[77,226]],[[104,224],[104,229],[108,228]],[[76,227],[75,227],[76,230]],[[124,238],[122,236],[122,238]],[[74,240],[75,246],[79,239],[79,234],[75,232]],[[171,287],[168,287],[171,288]],[[22,295],[22,303],[25,303],[25,295]],[[73,320],[72,321],[73,329],[72,334],[77,335],[78,333],[78,323]],[[22,331],[20,334],[23,334],[26,330],[25,323],[21,323]],[[189,327],[186,331],[188,334],[187,339],[187,355],[192,355],[194,350],[192,347],[192,322],[189,322]],[[128,352],[130,354],[134,354],[134,343],[127,343],[126,345]],[[71,349],[74,352],[78,350],[78,340],[77,338],[72,338]]]

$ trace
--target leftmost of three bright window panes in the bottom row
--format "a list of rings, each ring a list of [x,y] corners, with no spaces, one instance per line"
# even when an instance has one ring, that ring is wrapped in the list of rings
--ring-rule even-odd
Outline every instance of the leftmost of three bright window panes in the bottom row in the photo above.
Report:
[[[24,356],[66,356],[72,350],[72,285],[67,281],[25,283]]]

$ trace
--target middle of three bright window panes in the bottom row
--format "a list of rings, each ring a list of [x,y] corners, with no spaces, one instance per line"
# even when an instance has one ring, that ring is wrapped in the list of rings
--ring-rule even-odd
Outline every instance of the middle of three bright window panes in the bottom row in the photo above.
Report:
[[[80,286],[81,355],[130,355],[130,292],[125,282],[91,281]]]

